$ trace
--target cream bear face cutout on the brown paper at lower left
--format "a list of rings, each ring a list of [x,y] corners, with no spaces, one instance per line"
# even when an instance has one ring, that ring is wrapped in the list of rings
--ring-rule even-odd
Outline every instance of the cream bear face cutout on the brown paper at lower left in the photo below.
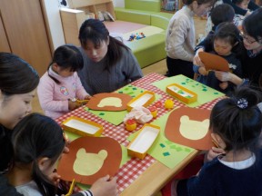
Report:
[[[84,148],[81,148],[76,153],[76,160],[73,165],[73,170],[80,175],[93,175],[102,168],[106,157],[106,150],[101,150],[98,153],[92,153],[86,152]]]

